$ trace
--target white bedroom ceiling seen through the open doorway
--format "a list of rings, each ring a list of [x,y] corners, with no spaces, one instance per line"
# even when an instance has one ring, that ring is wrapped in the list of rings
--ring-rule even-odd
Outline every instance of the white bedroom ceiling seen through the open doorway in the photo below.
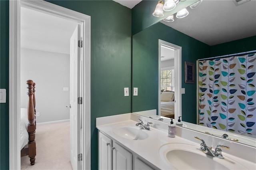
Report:
[[[21,8],[20,46],[22,48],[69,54],[70,37],[77,23]]]

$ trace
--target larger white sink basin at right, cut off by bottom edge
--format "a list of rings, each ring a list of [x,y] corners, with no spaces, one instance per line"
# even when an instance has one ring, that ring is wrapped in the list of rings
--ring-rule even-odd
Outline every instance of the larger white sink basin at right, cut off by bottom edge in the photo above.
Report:
[[[241,170],[246,169],[238,161],[227,156],[224,159],[204,154],[200,146],[173,143],[166,144],[159,149],[160,158],[178,170]]]

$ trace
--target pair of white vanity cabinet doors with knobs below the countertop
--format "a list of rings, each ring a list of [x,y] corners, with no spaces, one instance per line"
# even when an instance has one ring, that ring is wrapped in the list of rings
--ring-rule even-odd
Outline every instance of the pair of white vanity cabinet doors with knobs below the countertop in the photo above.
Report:
[[[99,132],[99,169],[132,170],[132,154]]]

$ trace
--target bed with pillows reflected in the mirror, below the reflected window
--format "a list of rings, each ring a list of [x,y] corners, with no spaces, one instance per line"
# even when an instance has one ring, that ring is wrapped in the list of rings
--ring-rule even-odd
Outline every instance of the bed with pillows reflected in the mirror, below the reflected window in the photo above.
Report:
[[[174,119],[174,91],[161,92],[161,116]]]

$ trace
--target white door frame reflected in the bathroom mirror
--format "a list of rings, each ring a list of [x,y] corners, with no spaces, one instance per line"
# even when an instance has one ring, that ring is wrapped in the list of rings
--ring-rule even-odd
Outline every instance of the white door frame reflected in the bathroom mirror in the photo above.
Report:
[[[178,120],[179,116],[182,116],[181,106],[181,50],[182,47],[169,43],[163,40],[158,40],[158,113],[161,115],[161,45],[174,49],[174,118]]]

